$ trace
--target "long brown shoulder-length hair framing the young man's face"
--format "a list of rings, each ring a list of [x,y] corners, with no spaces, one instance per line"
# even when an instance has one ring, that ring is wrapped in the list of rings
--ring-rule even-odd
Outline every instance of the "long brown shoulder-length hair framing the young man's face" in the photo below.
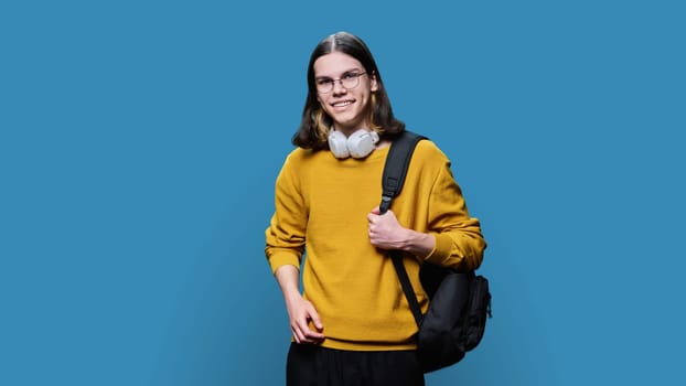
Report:
[[[321,108],[317,99],[317,84],[314,83],[314,62],[332,52],[342,52],[362,63],[367,74],[374,74],[378,88],[369,98],[369,128],[378,132],[379,137],[389,139],[405,130],[405,124],[396,119],[390,108],[390,100],[386,94],[382,74],[367,45],[357,36],[347,32],[337,32],[322,40],[310,56],[308,65],[308,97],[302,109],[302,121],[293,135],[294,146],[304,149],[328,149],[326,137],[333,124],[331,117]]]

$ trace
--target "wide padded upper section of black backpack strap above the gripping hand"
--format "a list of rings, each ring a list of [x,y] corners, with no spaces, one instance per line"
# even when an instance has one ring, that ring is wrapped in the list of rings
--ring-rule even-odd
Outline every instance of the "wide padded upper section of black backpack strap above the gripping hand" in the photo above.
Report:
[[[388,211],[393,199],[400,194],[415,147],[422,139],[426,137],[406,130],[390,144],[382,176],[383,194],[382,203],[378,206],[382,214]]]

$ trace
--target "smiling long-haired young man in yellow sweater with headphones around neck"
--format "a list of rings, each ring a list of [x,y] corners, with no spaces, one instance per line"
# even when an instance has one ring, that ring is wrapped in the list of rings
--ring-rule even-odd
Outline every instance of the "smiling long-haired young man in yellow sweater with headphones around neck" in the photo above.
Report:
[[[340,32],[321,41],[310,57],[308,86],[293,137],[298,148],[277,179],[266,230],[267,259],[293,339],[287,383],[424,385],[417,325],[388,250],[405,253],[426,310],[419,267],[479,267],[485,248],[479,221],[468,213],[450,161],[427,140],[417,146],[392,211],[379,215],[384,162],[405,125],[394,117],[361,39]]]

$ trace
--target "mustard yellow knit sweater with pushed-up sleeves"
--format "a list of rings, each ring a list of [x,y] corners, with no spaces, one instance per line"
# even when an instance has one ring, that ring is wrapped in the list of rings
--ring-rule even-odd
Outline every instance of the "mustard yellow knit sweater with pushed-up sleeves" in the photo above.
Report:
[[[416,347],[417,325],[393,262],[367,236],[366,215],[380,202],[388,149],[377,149],[363,160],[296,149],[277,178],[276,212],[266,230],[265,251],[272,271],[283,265],[300,267],[304,259],[303,296],[322,319],[325,347]],[[468,214],[450,161],[433,142],[417,146],[390,210],[401,226],[436,238],[429,256],[405,258],[426,311],[428,300],[418,277],[421,262],[476,268],[485,248],[479,221]]]

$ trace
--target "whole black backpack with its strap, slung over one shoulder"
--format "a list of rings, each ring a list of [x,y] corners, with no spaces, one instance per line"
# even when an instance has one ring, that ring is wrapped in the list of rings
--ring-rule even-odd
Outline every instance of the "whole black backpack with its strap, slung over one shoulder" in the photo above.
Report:
[[[400,193],[416,144],[426,137],[403,132],[390,146],[382,181],[380,213]],[[403,255],[390,251],[400,286],[419,328],[417,352],[425,373],[460,362],[481,342],[491,318],[489,280],[474,271],[460,272],[425,262],[419,279],[429,296],[429,310],[421,313],[415,290],[403,265]]]

